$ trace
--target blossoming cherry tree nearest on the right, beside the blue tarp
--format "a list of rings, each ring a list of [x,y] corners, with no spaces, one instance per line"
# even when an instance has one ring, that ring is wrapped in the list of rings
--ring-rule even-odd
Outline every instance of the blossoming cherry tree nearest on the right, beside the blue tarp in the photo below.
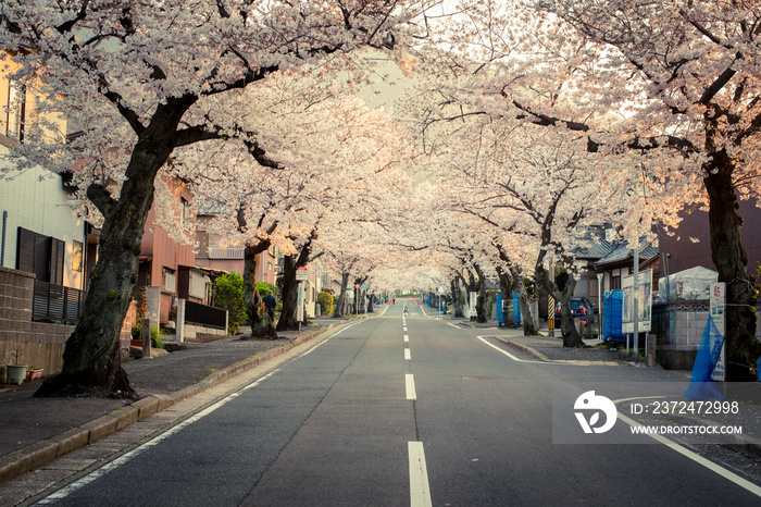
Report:
[[[577,132],[611,170],[636,168],[639,178],[624,181],[669,188],[648,202],[653,214],[706,206],[713,262],[727,283],[727,375],[749,378],[761,345],[737,199],[759,190],[758,2],[484,0],[472,8],[433,59],[457,77],[441,81],[431,110],[458,103],[458,118]]]

